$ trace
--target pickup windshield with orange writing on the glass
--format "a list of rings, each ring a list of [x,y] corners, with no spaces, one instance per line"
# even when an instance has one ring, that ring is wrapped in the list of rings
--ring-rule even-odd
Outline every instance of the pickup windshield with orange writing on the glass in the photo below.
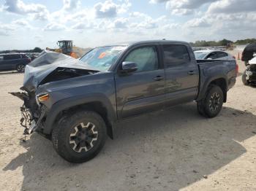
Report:
[[[107,71],[126,48],[127,46],[97,47],[80,58],[80,61],[99,71]]]

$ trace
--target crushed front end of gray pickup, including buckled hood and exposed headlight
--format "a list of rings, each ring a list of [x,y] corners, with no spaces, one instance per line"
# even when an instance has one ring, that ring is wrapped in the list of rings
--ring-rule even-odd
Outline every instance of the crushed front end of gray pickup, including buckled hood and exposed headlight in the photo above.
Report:
[[[44,51],[26,66],[21,92],[12,92],[24,103],[20,107],[20,125],[24,134],[34,131],[43,134],[49,106],[46,104],[49,93],[40,92],[40,86],[50,82],[94,74],[97,70],[82,61],[57,52]],[[42,88],[43,89],[43,88]],[[46,96],[47,95],[47,96]],[[53,103],[51,103],[53,104]]]

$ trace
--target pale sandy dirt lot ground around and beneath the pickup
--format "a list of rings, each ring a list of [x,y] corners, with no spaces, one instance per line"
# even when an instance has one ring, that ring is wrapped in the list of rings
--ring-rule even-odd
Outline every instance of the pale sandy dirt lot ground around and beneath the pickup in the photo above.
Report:
[[[8,92],[23,74],[0,82],[1,190],[256,190],[256,88],[241,77],[218,117],[191,103],[123,122],[94,160],[77,165],[37,133],[20,141],[22,102]]]

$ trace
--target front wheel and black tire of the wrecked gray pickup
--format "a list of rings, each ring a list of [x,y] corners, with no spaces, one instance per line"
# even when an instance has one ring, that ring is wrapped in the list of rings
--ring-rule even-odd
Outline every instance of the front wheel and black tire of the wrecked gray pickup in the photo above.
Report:
[[[105,121],[99,114],[91,111],[80,111],[62,117],[52,133],[54,149],[70,163],[83,163],[94,158],[104,146],[105,139]]]

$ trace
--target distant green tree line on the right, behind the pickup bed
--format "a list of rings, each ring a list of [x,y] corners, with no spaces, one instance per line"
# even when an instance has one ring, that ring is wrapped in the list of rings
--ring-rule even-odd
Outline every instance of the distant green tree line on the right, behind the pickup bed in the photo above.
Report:
[[[256,39],[242,39],[242,40],[237,40],[236,42],[227,40],[227,39],[222,39],[220,41],[196,41],[196,42],[190,42],[192,47],[229,47],[232,45],[244,45],[244,44],[249,44],[252,42],[256,42]]]

